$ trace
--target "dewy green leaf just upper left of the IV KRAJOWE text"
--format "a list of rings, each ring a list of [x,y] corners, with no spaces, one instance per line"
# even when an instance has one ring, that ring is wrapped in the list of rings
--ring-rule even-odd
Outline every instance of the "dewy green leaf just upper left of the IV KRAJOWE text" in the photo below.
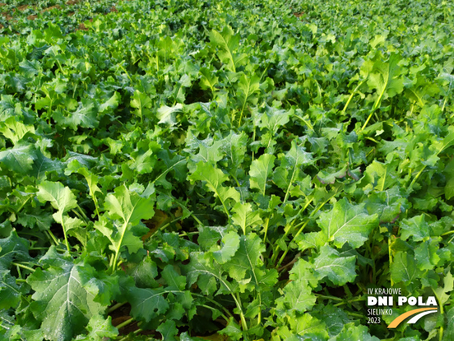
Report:
[[[329,246],[320,248],[320,255],[314,259],[313,269],[320,279],[327,277],[334,285],[345,285],[357,277],[356,257],[340,257],[339,252]]]

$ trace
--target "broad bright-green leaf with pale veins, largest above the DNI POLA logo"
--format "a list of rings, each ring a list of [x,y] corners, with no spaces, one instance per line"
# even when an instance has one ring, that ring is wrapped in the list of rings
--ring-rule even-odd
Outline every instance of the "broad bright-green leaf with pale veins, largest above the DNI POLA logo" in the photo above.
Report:
[[[327,241],[334,241],[337,248],[349,243],[359,248],[367,241],[370,232],[378,226],[378,215],[369,215],[365,204],[352,205],[347,198],[334,204],[329,213],[322,213],[318,225]]]

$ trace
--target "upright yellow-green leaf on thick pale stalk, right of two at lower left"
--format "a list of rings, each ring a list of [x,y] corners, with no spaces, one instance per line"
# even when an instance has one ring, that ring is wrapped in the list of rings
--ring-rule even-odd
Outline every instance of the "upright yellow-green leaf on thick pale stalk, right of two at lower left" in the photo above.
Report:
[[[111,258],[111,269],[116,271],[120,252],[127,249],[133,254],[143,248],[141,236],[148,229],[141,225],[141,220],[150,219],[155,214],[155,188],[152,185],[141,192],[132,192],[122,185],[107,195],[104,202],[106,212],[95,223],[95,228],[109,238],[114,255]]]

